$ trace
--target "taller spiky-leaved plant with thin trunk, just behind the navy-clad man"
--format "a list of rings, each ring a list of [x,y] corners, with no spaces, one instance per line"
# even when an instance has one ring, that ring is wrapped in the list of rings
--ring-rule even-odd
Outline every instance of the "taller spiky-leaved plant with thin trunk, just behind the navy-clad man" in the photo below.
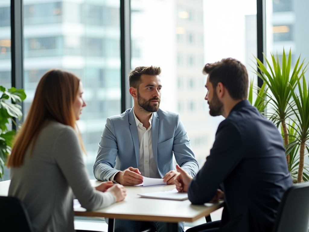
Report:
[[[257,67],[261,71],[261,73],[256,72],[256,74],[267,84],[269,90],[272,93],[272,96],[269,95],[269,103],[273,112],[268,113],[267,117],[272,122],[274,122],[277,127],[279,127],[281,123],[284,134],[284,145],[286,146],[289,144],[286,119],[290,118],[294,114],[293,103],[290,102],[290,99],[292,97],[292,94],[294,93],[294,88],[296,87],[296,83],[298,80],[298,74],[304,65],[304,61],[300,63],[299,56],[291,73],[291,49],[287,60],[285,51],[283,49],[282,68],[280,67],[278,55],[275,58],[275,56],[271,54],[273,66],[270,65],[265,55],[264,58],[267,66],[264,66],[264,64],[260,62],[258,58],[256,58]],[[267,71],[267,68],[270,72]],[[290,86],[290,88],[288,86]],[[286,161],[288,165],[290,162],[289,159],[290,155],[288,153],[286,155]]]

